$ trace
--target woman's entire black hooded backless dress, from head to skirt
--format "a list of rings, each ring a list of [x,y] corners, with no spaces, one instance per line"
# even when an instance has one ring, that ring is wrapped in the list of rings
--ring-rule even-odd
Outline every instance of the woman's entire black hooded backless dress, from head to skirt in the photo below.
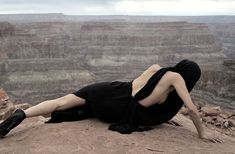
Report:
[[[79,117],[74,118],[79,120],[88,117],[100,118],[105,122],[113,123],[110,125],[109,130],[120,133],[129,134],[133,131],[149,130],[151,129],[150,127],[140,126],[159,125],[167,122],[177,114],[183,105],[183,101],[175,90],[169,93],[166,101],[162,104],[144,107],[138,103],[138,100],[151,94],[167,71],[178,72],[185,80],[189,92],[201,75],[201,70],[197,63],[184,59],[173,67],[163,67],[153,74],[146,85],[134,97],[131,96],[132,81],[91,84],[74,92],[76,96],[86,99],[85,106],[87,110],[77,107],[76,110],[68,109],[64,112],[70,113],[71,116],[71,111],[73,110],[72,117]],[[57,116],[55,116],[56,113]],[[60,111],[52,113],[52,118],[49,122],[66,121],[62,120],[58,115],[60,115]]]

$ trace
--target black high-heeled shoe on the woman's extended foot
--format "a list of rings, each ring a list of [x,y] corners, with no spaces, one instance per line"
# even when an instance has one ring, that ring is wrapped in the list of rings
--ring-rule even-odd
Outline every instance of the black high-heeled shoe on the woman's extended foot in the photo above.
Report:
[[[23,110],[17,109],[9,118],[4,120],[0,124],[0,138],[7,135],[13,128],[18,126],[24,119],[26,115]]]

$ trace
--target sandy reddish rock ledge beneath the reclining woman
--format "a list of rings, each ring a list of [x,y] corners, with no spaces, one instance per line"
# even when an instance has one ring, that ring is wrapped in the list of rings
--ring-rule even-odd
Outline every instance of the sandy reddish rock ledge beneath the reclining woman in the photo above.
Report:
[[[227,116],[223,113],[218,117],[231,118],[233,114]],[[151,131],[122,135],[109,131],[107,129],[109,124],[97,119],[44,124],[47,119],[42,116],[27,118],[7,136],[0,139],[0,153],[234,153],[235,137],[215,130],[214,128],[217,127],[214,125],[205,129],[209,133],[220,136],[225,141],[223,144],[199,139],[192,121],[180,113],[173,120],[181,126],[163,124],[155,126]]]

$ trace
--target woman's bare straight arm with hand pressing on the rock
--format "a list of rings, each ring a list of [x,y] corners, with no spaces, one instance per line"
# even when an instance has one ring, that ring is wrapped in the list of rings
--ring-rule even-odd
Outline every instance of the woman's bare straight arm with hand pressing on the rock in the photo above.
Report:
[[[183,100],[185,106],[188,108],[190,118],[192,119],[192,121],[197,129],[199,138],[206,139],[206,140],[209,140],[209,141],[212,141],[215,143],[217,143],[217,142],[222,143],[223,140],[221,140],[220,138],[214,137],[214,136],[210,137],[209,135],[207,135],[205,133],[205,131],[202,127],[202,123],[200,120],[200,115],[197,110],[197,107],[193,104],[192,99],[190,97],[190,94],[188,92],[188,89],[186,87],[185,81],[180,74],[178,74],[178,73],[175,74],[175,77],[173,79],[172,84],[173,84],[174,88],[176,89],[177,94],[180,96],[180,98]]]

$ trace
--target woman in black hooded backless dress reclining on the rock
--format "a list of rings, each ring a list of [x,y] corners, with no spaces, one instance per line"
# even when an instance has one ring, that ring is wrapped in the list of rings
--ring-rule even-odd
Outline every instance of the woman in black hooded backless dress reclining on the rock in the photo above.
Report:
[[[97,117],[113,123],[109,130],[129,134],[152,129],[172,119],[184,104],[201,139],[222,143],[208,136],[189,92],[199,80],[197,63],[184,59],[173,67],[150,66],[130,82],[100,82],[88,85],[54,100],[47,100],[26,110],[17,109],[0,124],[0,137],[25,118],[51,113],[46,123]]]

